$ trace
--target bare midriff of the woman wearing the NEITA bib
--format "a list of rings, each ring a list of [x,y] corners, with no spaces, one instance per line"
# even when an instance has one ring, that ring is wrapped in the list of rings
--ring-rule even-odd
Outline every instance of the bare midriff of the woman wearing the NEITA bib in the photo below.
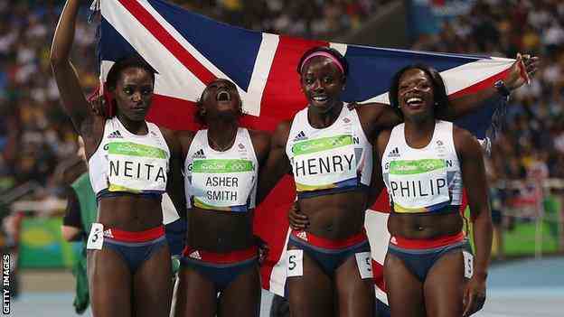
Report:
[[[108,197],[99,200],[98,222],[105,228],[136,232],[163,224],[161,200],[135,195]]]

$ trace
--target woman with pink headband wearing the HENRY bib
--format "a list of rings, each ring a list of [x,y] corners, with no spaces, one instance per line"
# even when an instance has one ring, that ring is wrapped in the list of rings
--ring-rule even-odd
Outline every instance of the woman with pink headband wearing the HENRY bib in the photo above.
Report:
[[[521,62],[521,61],[519,61]],[[536,60],[527,62],[534,70]],[[371,316],[374,286],[370,247],[364,232],[369,202],[372,145],[378,133],[400,124],[388,105],[349,109],[341,101],[347,62],[333,49],[316,47],[299,61],[308,106],[277,126],[258,181],[258,201],[285,173],[293,173],[297,205],[307,217],[292,230],[287,251],[287,287],[292,316]],[[505,80],[524,82],[518,63]],[[437,117],[455,118],[498,98],[498,89],[450,100]],[[336,295],[335,295],[336,294]]]

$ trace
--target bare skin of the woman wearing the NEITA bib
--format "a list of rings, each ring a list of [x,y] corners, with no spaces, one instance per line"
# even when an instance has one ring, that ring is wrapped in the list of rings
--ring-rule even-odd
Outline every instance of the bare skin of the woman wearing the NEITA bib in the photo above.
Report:
[[[61,104],[72,124],[84,139],[86,155],[94,154],[104,133],[106,118],[96,115],[84,97],[80,80],[70,61],[80,1],[67,1],[52,42],[52,70],[61,93]],[[130,67],[122,70],[114,87],[109,87],[117,104],[119,121],[132,134],[146,135],[146,112],[153,97],[154,79],[147,70]],[[182,208],[181,148],[174,133],[161,128],[171,153],[167,192]],[[162,225],[161,201],[126,195],[99,200],[98,222],[105,228],[143,231]],[[170,311],[172,285],[171,259],[164,246],[133,274],[122,256],[109,248],[89,250],[89,292],[96,316],[166,316]]]

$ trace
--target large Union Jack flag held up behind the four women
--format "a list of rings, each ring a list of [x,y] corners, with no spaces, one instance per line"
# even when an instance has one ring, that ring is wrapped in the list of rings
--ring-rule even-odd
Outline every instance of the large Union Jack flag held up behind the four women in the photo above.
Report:
[[[134,52],[157,71],[155,97],[148,120],[177,130],[197,129],[194,104],[206,84],[230,79],[243,101],[242,124],[272,131],[280,120],[293,117],[306,106],[299,88],[296,64],[304,51],[318,45],[340,51],[349,61],[350,74],[343,101],[388,103],[392,75],[400,68],[425,63],[446,79],[449,95],[464,95],[491,87],[511,67],[509,59],[403,51],[310,41],[260,33],[218,23],[162,0],[99,0],[100,79],[105,81],[114,61]],[[494,106],[484,107],[459,125],[482,138],[491,123]],[[255,231],[268,242],[270,252],[262,268],[265,289],[284,294],[287,210],[295,189],[289,178],[277,185],[259,206]],[[390,238],[386,229],[387,195],[367,211],[376,293],[387,303],[381,264]],[[379,210],[381,212],[373,212]]]

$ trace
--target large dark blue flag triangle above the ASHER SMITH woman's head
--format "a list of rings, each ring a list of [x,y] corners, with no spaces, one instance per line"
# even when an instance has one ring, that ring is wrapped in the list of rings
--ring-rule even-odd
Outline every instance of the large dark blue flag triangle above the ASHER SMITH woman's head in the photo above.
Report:
[[[262,33],[218,23],[161,0],[149,0],[149,4],[241,89],[249,88]]]

